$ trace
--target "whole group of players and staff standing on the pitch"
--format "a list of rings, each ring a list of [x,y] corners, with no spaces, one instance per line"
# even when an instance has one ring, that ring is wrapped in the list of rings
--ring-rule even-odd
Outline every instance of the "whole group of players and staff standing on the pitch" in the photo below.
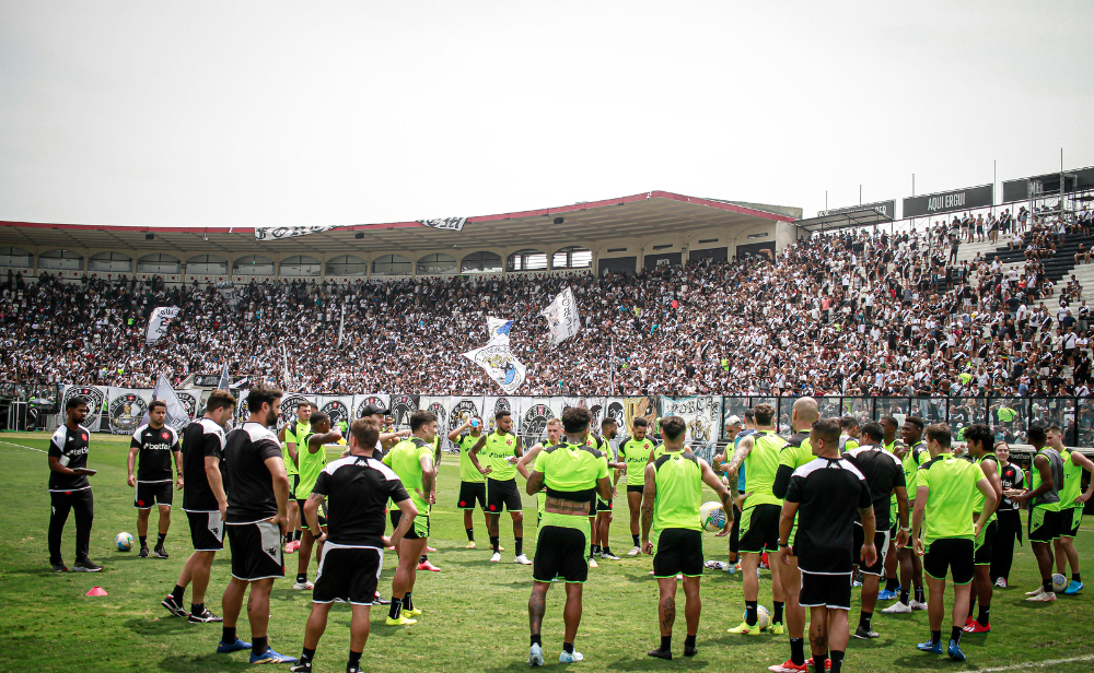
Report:
[[[138,533],[141,554],[148,555],[148,513],[160,507],[160,535],[153,554],[163,548],[170,522],[172,486],[185,492],[183,509],[190,524],[194,553],[163,605],[191,622],[222,622],[218,652],[251,649],[253,663],[293,663],[292,671],[311,671],[327,613],[335,601],[352,609],[351,646],[347,670],[360,670],[369,633],[369,609],[389,603],[388,625],[410,625],[421,610],[412,602],[416,571],[437,569],[424,552],[429,510],[435,503],[440,441],[437,416],[411,414],[410,429],[382,433],[387,410],[366,409],[363,418],[348,428],[348,437],[330,428],[326,414],[307,403],[295,422],[278,426],[281,391],[256,386],[247,398],[249,417],[225,433],[235,399],[214,391],[205,415],[177,436],[165,427],[165,408],[150,405],[150,423],[133,435],[129,457],[130,485],[137,489]],[[77,513],[77,564],[73,570],[96,571],[88,557],[92,500],[86,470],[89,432],[82,427],[86,403],[73,398],[67,404],[67,423],[53,437],[49,449],[50,562],[60,559],[60,533],[69,509]],[[891,578],[897,564],[901,572],[900,600],[883,612],[927,609],[931,638],[918,647],[941,653],[943,593],[946,574],[955,583],[953,629],[946,651],[964,660],[961,635],[990,629],[988,611],[992,591],[987,574],[996,508],[1004,497],[991,434],[974,425],[966,432],[970,460],[955,458],[950,430],[944,425],[924,427],[921,420],[905,421],[905,445],[894,440],[896,421],[883,418],[841,436],[839,420],[818,418],[812,398],[793,408],[795,434],[783,440],[775,434],[775,410],[760,404],[746,416],[746,427],[734,441],[732,458],[715,458],[714,468],[684,446],[683,418],[662,418],[663,444],[648,438],[649,425],[637,420],[633,436],[613,452],[608,441],[617,428],[606,420],[601,434],[590,433],[592,416],[584,409],[568,409],[562,418],[547,424],[547,439],[523,450],[512,433],[512,420],[501,412],[494,428],[484,433],[481,421],[468,420],[450,439],[461,448],[458,507],[465,510],[468,548],[474,548],[472,510],[484,509],[490,538],[491,562],[501,559],[499,521],[503,509],[513,519],[514,563],[533,566],[528,601],[531,648],[528,663],[544,663],[540,628],[546,593],[555,581],[565,582],[565,638],[560,662],[580,661],[573,648],[581,618],[583,583],[589,567],[601,558],[618,558],[608,548],[608,526],[616,483],[627,475],[627,499],[635,547],[630,555],[653,555],[659,582],[661,645],[650,656],[672,659],[677,580],[683,580],[687,638],[684,654],[696,653],[700,615],[699,576],[703,570],[702,527],[699,508],[702,486],[712,488],[726,512],[728,534],[734,523],[744,578],[745,621],[731,633],[758,635],[756,568],[765,550],[778,550],[770,564],[775,614],[769,633],[788,633],[790,659],[770,670],[805,671],[805,607],[811,611],[811,651],[816,670],[839,672],[849,637],[851,578],[854,566],[865,576],[862,614],[856,637],[875,638],[871,628],[882,572]],[[305,422],[306,414],[306,422]],[[1034,543],[1045,585],[1029,600],[1055,600],[1051,586],[1054,545],[1066,556],[1079,582],[1078,556],[1070,544],[1078,532],[1082,504],[1091,493],[1080,493],[1081,471],[1094,469],[1085,457],[1059,445],[1058,428],[1048,433],[1032,427],[1037,449],[1033,484],[1028,491],[1011,489],[1013,501],[1031,501],[1029,538]],[[924,439],[926,437],[926,439]],[[347,441],[348,439],[348,441]],[[284,442],[284,445],[281,444]],[[337,460],[327,461],[326,447],[346,444]],[[1046,446],[1048,445],[1048,446]],[[284,452],[282,452],[282,446]],[[154,450],[153,450],[154,449]],[[386,450],[385,450],[386,449]],[[177,479],[171,475],[174,456]],[[133,475],[135,459],[140,468]],[[516,473],[526,492],[537,498],[538,539],[534,560],[523,553],[523,506]],[[719,476],[719,473],[724,474]],[[389,511],[394,532],[386,531]],[[293,519],[302,534],[294,533]],[[205,606],[205,592],[216,553],[228,532],[232,547],[232,579],[222,599],[223,617]],[[1061,534],[1063,535],[1061,538]],[[1055,542],[1064,540],[1066,542]],[[909,542],[913,545],[909,546]],[[316,582],[307,581],[312,548],[319,558]],[[600,548],[597,548],[600,547]],[[376,591],[384,550],[396,550],[399,562],[392,600]],[[294,588],[313,590],[313,607],[299,661],[275,651],[267,637],[269,593],[283,577],[282,550],[300,553]],[[920,560],[922,557],[922,560]],[[1062,562],[1061,562],[1062,563]],[[922,593],[926,570],[930,601]],[[893,580],[891,579],[891,582]],[[193,585],[190,610],[183,607],[185,589]],[[916,588],[915,599],[907,587]],[[971,586],[970,586],[971,585]],[[247,602],[252,642],[235,633],[243,598]],[[970,601],[971,590],[976,598]],[[973,619],[976,600],[980,614]],[[783,626],[785,621],[785,627]]]

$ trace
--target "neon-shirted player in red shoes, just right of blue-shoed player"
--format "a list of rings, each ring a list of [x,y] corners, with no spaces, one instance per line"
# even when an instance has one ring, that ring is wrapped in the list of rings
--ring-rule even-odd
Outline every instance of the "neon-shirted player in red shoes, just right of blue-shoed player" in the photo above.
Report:
[[[996,504],[1003,497],[1003,486],[999,481],[999,461],[991,452],[991,442],[994,435],[987,425],[975,423],[965,429],[965,441],[968,446],[969,458],[980,465],[984,477],[996,494]],[[973,518],[979,519],[984,510],[984,497],[977,491],[973,494]],[[986,634],[991,630],[991,554],[992,545],[999,535],[999,522],[996,520],[996,512],[988,517],[987,524],[976,536],[973,555],[973,593],[968,603],[968,617],[965,619],[965,633]],[[980,603],[980,612],[973,618],[973,607],[977,601]]]

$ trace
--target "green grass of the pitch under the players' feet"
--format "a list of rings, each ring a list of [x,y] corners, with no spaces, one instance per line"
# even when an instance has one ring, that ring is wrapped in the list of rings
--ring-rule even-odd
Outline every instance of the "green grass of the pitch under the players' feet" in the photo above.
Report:
[[[92,558],[105,564],[100,575],[49,571],[46,527],[49,500],[46,494],[46,457],[13,445],[45,449],[44,434],[0,434],[0,670],[33,671],[240,671],[249,666],[246,653],[213,653],[219,625],[190,625],[171,617],[160,600],[174,586],[189,553],[189,531],[176,508],[167,539],[170,559],[138,559],[135,552],[114,550],[114,535],[126,530],[136,534],[132,492],[126,485],[128,438],[96,435],[89,465],[100,472],[92,477],[95,493],[95,528]],[[512,560],[512,529],[502,521],[502,564],[490,564],[481,515],[475,529],[480,548],[464,550],[462,512],[453,507],[458,486],[456,459],[445,456],[438,488],[439,506],[432,516],[439,552],[430,558],[441,572],[421,572],[415,603],[426,611],[416,626],[387,627],[386,611],[372,614],[372,634],[363,664],[368,671],[523,671],[527,661],[527,599],[531,568]],[[532,498],[525,501],[534,506]],[[176,499],[176,505],[179,504]],[[529,523],[534,508],[526,509]],[[155,513],[150,528],[154,531]],[[617,513],[613,526],[613,550],[630,548],[628,515]],[[63,551],[72,563],[74,521],[70,518]],[[526,527],[527,553],[535,552],[534,528]],[[153,532],[154,534],[154,532]],[[1092,527],[1084,524],[1078,544],[1089,572],[1094,571]],[[710,558],[725,558],[725,542],[706,538]],[[289,575],[295,556],[288,557]],[[385,559],[381,591],[391,591],[394,554]],[[672,662],[653,660],[645,651],[657,642],[656,585],[648,575],[649,557],[603,562],[590,570],[578,649],[586,661],[582,671],[710,670],[765,671],[789,654],[787,637],[764,635],[743,638],[725,633],[741,621],[743,598],[740,575],[708,571],[702,578],[703,613],[699,629],[699,654]],[[311,568],[314,577],[314,562]],[[220,595],[230,572],[229,553],[218,555],[207,603],[220,611]],[[299,654],[310,595],[293,591],[291,580],[278,581],[272,594],[270,638],[281,652]],[[978,670],[1023,662],[1094,654],[1091,635],[1092,593],[1067,598],[1055,604],[1027,603],[1024,590],[1038,583],[1029,547],[1016,550],[1012,587],[997,590],[992,604],[993,633],[966,636],[963,646],[969,662],[954,664],[946,658],[924,656],[913,649],[926,638],[927,615],[915,613],[889,617],[877,614],[874,628],[882,637],[871,642],[851,641],[846,666],[849,671]],[[100,585],[109,595],[85,598]],[[1091,590],[1094,592],[1094,589]],[[770,606],[770,576],[760,583],[760,603]],[[187,592],[187,604],[189,592]],[[947,597],[948,598],[948,597]],[[682,597],[680,597],[682,600]],[[852,624],[858,617],[858,595]],[[548,594],[544,625],[548,666],[557,666],[561,649],[562,591]],[[947,627],[948,628],[948,627]],[[247,638],[246,614],[240,634]],[[683,648],[683,610],[676,624],[674,649]],[[349,609],[331,611],[327,633],[319,645],[317,671],[341,671],[349,649]],[[1090,670],[1090,662],[1038,668],[1039,671]]]

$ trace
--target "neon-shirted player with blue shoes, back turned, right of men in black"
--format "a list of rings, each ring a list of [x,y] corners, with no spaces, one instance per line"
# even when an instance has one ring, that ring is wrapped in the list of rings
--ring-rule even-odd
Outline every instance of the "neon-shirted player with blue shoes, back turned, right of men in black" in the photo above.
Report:
[[[950,441],[950,428],[944,424],[935,423],[927,427],[927,450],[931,459],[920,468],[916,480],[912,540],[916,554],[923,557],[923,572],[930,591],[927,616],[931,625],[931,639],[916,647],[934,654],[943,651],[942,617],[948,571],[954,582],[954,607],[946,653],[954,661],[965,661],[961,635],[968,616],[975,540],[988,524],[991,512],[996,511],[996,491],[979,464],[953,454]],[[977,492],[984,497],[984,504],[979,518],[974,522],[974,494]]]

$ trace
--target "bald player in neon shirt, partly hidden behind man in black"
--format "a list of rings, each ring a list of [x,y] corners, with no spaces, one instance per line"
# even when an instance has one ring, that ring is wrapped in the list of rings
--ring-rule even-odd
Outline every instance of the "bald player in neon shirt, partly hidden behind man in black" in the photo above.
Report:
[[[772,492],[777,498],[785,498],[790,487],[790,476],[794,470],[810,462],[813,447],[810,445],[810,430],[818,417],[819,408],[813,398],[799,398],[794,402],[790,423],[794,435],[779,452],[779,471],[775,475]],[[783,664],[769,666],[772,673],[805,673],[805,609],[799,602],[802,591],[802,572],[798,569],[798,556],[794,554],[794,539],[798,536],[798,519],[790,532],[788,546],[790,553],[784,556],[785,566],[781,568],[780,580],[782,593],[787,601],[787,633],[790,634],[790,659]]]

